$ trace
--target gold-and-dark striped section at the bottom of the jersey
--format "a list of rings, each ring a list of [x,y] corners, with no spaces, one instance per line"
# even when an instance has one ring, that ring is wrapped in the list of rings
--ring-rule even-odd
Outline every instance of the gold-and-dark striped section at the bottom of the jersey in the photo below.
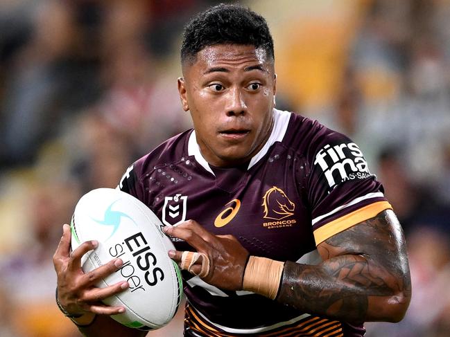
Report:
[[[187,304],[186,316],[184,318],[185,326],[202,336],[211,337],[236,337],[246,336],[247,334],[231,334],[225,331],[218,331],[210,322],[205,321],[202,316],[196,313],[196,310]],[[243,329],[245,330],[245,329]],[[342,325],[337,320],[328,320],[317,316],[309,316],[294,323],[271,329],[270,331],[261,331],[257,334],[248,334],[248,336],[260,337],[343,337]]]

